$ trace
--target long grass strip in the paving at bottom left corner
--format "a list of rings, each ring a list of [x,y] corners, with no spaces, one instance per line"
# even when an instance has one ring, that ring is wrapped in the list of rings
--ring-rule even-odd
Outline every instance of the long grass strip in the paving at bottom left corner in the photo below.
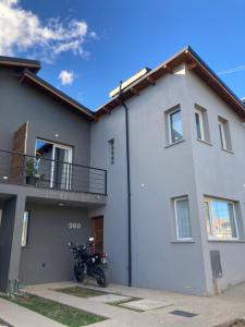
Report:
[[[105,317],[36,295],[25,294],[3,298],[69,327],[87,326],[106,319]]]

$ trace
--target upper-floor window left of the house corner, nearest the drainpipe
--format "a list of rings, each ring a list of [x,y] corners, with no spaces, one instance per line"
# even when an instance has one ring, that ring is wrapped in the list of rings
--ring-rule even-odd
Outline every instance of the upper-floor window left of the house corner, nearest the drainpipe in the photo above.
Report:
[[[181,109],[171,111],[168,117],[169,122],[169,142],[175,143],[183,140]]]

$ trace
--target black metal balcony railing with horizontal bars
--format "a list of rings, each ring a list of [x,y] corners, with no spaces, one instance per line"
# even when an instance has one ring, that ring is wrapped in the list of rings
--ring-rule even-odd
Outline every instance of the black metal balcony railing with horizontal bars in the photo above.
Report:
[[[0,183],[107,194],[107,170],[0,149]]]

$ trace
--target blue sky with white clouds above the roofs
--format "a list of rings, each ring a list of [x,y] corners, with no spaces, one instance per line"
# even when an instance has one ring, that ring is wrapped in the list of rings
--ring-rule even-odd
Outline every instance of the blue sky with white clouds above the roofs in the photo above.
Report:
[[[0,0],[0,55],[40,60],[40,77],[96,110],[189,45],[245,97],[244,15],[244,0]]]

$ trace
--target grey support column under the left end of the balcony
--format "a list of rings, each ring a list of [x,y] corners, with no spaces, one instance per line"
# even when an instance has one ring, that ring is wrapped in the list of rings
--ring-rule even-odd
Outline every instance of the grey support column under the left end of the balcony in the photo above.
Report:
[[[5,202],[0,238],[0,290],[8,291],[9,280],[19,279],[21,238],[25,211],[25,195]]]

